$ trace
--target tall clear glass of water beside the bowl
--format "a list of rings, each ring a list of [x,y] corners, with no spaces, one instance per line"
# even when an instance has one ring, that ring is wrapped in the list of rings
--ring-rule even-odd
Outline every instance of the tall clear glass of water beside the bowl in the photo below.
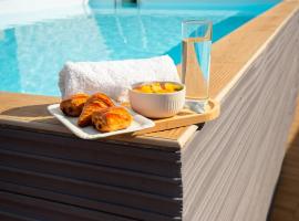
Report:
[[[182,23],[182,82],[186,96],[202,105],[209,98],[212,22],[189,20]]]

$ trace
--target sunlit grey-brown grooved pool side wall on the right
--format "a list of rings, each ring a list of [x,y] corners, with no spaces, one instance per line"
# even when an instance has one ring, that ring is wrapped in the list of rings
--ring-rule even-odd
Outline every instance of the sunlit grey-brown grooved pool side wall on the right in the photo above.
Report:
[[[299,88],[298,20],[280,27],[221,96],[221,116],[182,149],[183,220],[266,220]],[[298,186],[283,191],[297,197]]]

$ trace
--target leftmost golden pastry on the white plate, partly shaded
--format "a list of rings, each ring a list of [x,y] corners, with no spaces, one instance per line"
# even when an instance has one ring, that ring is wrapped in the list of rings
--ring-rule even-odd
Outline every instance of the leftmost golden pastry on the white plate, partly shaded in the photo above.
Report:
[[[87,94],[74,94],[60,103],[60,109],[68,116],[78,117],[89,97]]]

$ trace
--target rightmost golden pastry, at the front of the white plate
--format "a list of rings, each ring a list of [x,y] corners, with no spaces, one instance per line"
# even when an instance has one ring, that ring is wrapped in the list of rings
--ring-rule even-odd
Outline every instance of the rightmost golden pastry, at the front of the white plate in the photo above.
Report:
[[[115,131],[127,128],[133,117],[124,107],[110,107],[92,114],[94,127],[102,131]]]

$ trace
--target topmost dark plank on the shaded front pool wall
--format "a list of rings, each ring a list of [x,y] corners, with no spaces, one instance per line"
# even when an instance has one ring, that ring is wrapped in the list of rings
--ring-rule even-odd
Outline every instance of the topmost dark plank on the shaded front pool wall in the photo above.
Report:
[[[0,148],[34,156],[118,168],[144,175],[175,179],[181,176],[178,151],[140,148],[132,145],[84,140],[1,127]]]

